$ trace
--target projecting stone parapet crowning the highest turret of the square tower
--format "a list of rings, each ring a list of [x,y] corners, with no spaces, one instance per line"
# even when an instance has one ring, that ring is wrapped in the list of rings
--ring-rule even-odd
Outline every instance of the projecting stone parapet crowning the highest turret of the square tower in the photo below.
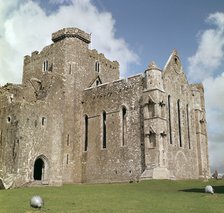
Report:
[[[65,38],[78,38],[85,43],[91,42],[90,34],[78,29],[78,28],[63,28],[52,34],[52,41],[57,42]]]

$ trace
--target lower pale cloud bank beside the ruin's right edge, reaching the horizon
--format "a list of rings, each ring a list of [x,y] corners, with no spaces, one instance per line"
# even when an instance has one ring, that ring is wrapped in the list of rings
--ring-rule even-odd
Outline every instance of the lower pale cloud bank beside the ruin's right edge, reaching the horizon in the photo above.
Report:
[[[212,170],[224,171],[224,72],[204,80],[210,162]]]

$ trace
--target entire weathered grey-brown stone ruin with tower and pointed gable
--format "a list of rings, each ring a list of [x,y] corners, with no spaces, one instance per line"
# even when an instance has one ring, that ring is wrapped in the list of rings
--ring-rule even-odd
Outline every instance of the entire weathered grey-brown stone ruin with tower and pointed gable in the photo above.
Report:
[[[119,64],[65,28],[24,58],[23,81],[0,88],[5,188],[210,175],[202,84],[174,50],[163,70],[119,79]]]

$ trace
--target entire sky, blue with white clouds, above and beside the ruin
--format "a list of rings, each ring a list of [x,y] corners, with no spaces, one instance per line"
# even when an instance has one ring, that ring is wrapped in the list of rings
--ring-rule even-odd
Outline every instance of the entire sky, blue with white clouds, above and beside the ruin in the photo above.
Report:
[[[163,68],[176,48],[189,82],[204,84],[211,167],[224,171],[222,0],[0,1],[0,85],[20,83],[23,56],[63,27],[92,33],[90,48],[118,60],[122,77],[152,60]]]

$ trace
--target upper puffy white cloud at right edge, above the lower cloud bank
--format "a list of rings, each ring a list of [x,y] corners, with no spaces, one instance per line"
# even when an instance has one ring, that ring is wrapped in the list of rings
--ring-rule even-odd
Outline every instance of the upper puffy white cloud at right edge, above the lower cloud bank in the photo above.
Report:
[[[193,81],[212,76],[224,62],[224,13],[209,15],[207,22],[214,28],[200,34],[198,49],[189,58],[189,77]]]

